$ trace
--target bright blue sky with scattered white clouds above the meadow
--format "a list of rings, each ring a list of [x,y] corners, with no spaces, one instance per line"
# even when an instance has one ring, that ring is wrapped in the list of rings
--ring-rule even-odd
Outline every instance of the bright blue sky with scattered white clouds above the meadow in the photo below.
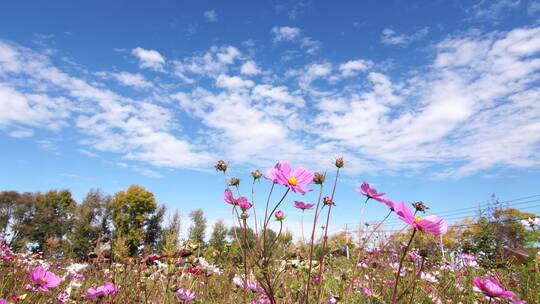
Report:
[[[524,0],[3,3],[0,185],[136,183],[212,223],[229,217],[216,160],[248,181],[279,160],[332,175],[343,156],[334,231],[358,223],[362,180],[433,213],[540,194],[539,16]]]

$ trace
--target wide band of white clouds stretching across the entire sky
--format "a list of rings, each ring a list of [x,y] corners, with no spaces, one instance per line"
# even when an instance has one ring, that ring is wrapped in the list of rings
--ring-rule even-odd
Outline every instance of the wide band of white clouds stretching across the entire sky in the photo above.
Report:
[[[171,60],[191,83],[163,76],[165,96],[141,101],[62,71],[54,55],[0,43],[0,131],[70,125],[90,151],[153,167],[210,168],[216,155],[313,169],[343,155],[348,174],[540,166],[540,27],[465,32],[429,51],[426,65],[399,73],[323,58],[244,79],[264,65],[212,47]]]

